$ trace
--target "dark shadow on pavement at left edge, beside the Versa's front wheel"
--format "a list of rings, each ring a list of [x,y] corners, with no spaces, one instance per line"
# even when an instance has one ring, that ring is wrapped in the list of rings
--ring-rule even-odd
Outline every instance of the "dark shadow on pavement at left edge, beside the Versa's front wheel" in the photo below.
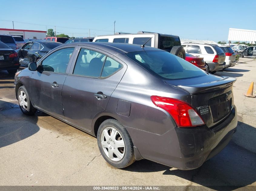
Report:
[[[37,121],[37,115],[24,117],[18,104],[0,100],[0,148],[34,135]]]

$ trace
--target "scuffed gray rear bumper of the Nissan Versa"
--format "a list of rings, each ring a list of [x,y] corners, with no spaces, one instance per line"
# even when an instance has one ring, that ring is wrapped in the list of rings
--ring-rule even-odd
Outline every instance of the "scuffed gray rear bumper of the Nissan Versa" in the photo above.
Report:
[[[181,170],[200,167],[218,154],[231,140],[237,126],[236,107],[218,125],[195,128],[173,128],[157,135],[127,127],[134,146],[142,158]]]

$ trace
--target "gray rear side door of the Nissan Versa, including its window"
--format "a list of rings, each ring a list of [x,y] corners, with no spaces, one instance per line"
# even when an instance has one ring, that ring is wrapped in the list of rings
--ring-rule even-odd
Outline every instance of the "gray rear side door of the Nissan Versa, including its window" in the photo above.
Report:
[[[101,54],[102,60],[101,58],[99,59],[102,62],[102,66],[108,63],[106,67],[104,65],[104,69],[101,68],[101,71],[108,70],[112,72],[115,68],[117,68],[117,70],[113,73],[108,72],[107,78],[97,78],[96,75],[98,75],[98,72],[95,72],[97,68],[91,67],[90,65],[97,60],[97,57],[91,58],[91,56],[98,56],[99,54],[91,50],[88,55],[85,54],[85,52],[86,51],[80,50],[78,54],[74,69],[76,75],[70,74],[65,80],[62,88],[62,103],[66,120],[83,129],[91,131],[92,120],[98,113],[105,110],[111,94],[125,73],[126,66],[120,64],[119,66],[121,67],[118,67],[116,65],[119,63],[116,64],[116,61]],[[108,62],[105,62],[105,60]],[[109,61],[112,62],[110,63]],[[112,69],[111,66],[114,69]],[[90,68],[93,68],[93,70]],[[97,95],[95,96],[95,94],[101,94],[104,98],[96,97]]]

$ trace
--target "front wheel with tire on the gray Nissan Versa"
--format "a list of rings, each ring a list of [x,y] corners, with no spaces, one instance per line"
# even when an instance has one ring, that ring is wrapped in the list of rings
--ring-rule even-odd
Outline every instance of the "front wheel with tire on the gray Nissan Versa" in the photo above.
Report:
[[[32,106],[28,91],[24,86],[18,89],[18,102],[22,113],[25,115],[34,115],[37,109]]]

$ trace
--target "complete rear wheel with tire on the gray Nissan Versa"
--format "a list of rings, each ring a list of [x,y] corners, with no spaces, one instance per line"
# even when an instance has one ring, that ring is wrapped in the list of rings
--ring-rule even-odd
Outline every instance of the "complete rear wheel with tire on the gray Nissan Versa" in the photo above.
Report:
[[[113,167],[125,168],[134,163],[131,137],[118,120],[107,119],[101,123],[97,142],[101,155]]]

